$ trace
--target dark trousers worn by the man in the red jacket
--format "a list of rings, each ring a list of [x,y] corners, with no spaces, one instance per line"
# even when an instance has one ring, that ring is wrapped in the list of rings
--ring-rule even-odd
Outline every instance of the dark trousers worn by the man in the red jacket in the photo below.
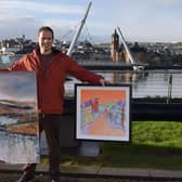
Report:
[[[62,122],[62,115],[39,115],[39,131],[44,130],[48,148],[49,148],[49,171],[50,174],[60,174],[61,162],[61,142],[60,142],[60,123]],[[35,173],[36,164],[27,164],[24,171]]]

